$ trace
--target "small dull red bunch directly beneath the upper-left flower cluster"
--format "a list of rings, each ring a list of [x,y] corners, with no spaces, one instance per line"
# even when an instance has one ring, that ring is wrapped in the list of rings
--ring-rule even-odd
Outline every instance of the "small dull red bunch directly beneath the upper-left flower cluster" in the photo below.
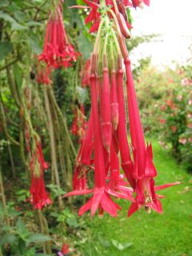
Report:
[[[50,85],[52,83],[50,79],[50,74],[50,66],[38,63],[38,71],[36,75],[36,81],[38,82],[38,84]]]

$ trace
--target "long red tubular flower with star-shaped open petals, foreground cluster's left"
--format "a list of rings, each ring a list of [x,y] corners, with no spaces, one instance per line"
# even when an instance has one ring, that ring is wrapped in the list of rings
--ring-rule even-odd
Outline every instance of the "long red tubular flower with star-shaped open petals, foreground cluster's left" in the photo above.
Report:
[[[90,94],[91,94],[91,116],[94,122],[94,190],[74,190],[66,196],[74,194],[90,194],[93,196],[81,207],[78,214],[82,215],[87,210],[91,211],[91,216],[94,216],[96,210],[102,215],[106,211],[113,217],[117,216],[117,210],[121,207],[112,201],[110,194],[116,197],[128,198],[126,194],[121,194],[116,191],[110,190],[106,185],[106,166],[104,162],[103,146],[102,146],[102,133],[99,123],[98,115],[98,91],[97,91],[97,78],[95,74],[96,56],[93,55],[92,73],[90,75]]]

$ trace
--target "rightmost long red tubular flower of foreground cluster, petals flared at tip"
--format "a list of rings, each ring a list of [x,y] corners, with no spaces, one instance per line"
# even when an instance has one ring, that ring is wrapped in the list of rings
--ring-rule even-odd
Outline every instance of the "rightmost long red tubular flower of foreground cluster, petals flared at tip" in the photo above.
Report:
[[[180,184],[180,182],[174,182],[156,188],[154,187],[154,177],[157,175],[157,170],[153,163],[152,146],[151,144],[146,146],[145,143],[128,51],[126,50],[126,45],[121,34],[119,34],[118,39],[126,66],[126,90],[130,121],[130,137],[134,157],[132,177],[136,182],[136,186],[134,187],[136,197],[134,199],[135,201],[132,202],[130,206],[128,216],[141,208],[141,206],[145,206],[146,210],[154,209],[161,213],[161,202],[158,201],[159,196],[155,194],[155,190],[162,190],[168,186]]]

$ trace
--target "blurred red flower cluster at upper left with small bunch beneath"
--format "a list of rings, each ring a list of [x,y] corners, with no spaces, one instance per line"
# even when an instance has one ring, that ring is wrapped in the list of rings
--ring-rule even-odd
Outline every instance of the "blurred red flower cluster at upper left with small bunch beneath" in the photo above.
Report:
[[[62,2],[63,0],[60,0],[58,5],[54,6],[47,22],[43,52],[38,56],[40,63],[37,65],[36,80],[39,84],[50,85],[52,83],[50,79],[52,69],[72,66],[79,55],[66,34],[62,21]]]

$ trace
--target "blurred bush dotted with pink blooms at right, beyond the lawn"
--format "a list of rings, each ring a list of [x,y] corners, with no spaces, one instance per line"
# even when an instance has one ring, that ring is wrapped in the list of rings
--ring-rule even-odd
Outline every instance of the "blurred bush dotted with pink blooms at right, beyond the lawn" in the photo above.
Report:
[[[191,84],[189,67],[159,72],[154,68],[142,70],[136,89],[144,130],[158,134],[162,144],[171,143],[178,161],[191,170]]]

